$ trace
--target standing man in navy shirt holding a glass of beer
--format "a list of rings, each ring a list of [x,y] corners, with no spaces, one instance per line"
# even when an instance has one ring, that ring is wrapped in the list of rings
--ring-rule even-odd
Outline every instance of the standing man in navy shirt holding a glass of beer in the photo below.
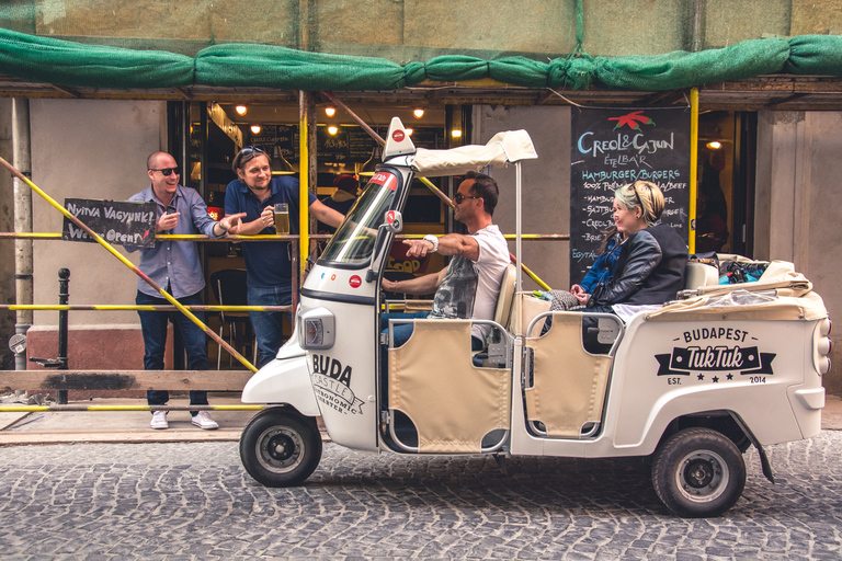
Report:
[[[273,178],[269,154],[253,146],[240,150],[231,168],[239,179],[230,182],[225,191],[225,214],[246,215],[241,225],[231,228],[231,233],[276,233],[274,205],[277,203],[286,203],[289,209],[289,233],[299,233],[297,179],[288,175]],[[307,206],[318,220],[333,227],[342,224],[344,216],[325,206],[312,193],[308,194]],[[293,304],[291,251],[289,243],[283,241],[242,244],[249,306]],[[275,357],[283,343],[283,312],[251,311],[249,318],[258,339],[262,367]]]

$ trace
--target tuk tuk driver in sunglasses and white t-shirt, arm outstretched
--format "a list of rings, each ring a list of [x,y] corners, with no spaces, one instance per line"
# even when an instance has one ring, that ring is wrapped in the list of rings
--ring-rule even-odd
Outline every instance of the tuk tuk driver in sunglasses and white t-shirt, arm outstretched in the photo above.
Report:
[[[403,243],[410,245],[407,250],[410,257],[423,257],[428,253],[439,252],[453,255],[453,259],[439,273],[407,280],[384,279],[383,289],[390,293],[426,295],[434,291],[435,296],[429,314],[384,313],[380,317],[382,329],[385,330],[388,319],[394,318],[494,318],[500,284],[511,261],[509,244],[500,228],[493,224],[498,197],[497,182],[491,176],[468,172],[453,197],[456,204],[453,218],[465,225],[467,236],[448,233],[441,238],[425,236],[421,240],[403,240]],[[489,329],[487,325],[471,328],[471,346],[475,351],[485,346]],[[395,346],[400,346],[409,341],[412,324],[396,324],[392,332]],[[385,353],[382,357],[385,365]]]

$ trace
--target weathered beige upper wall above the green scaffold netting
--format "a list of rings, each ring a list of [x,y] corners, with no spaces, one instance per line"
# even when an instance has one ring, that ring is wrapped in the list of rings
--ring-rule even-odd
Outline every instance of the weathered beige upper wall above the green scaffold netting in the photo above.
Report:
[[[555,57],[576,46],[568,0],[30,0],[0,5],[0,26],[45,37],[195,54],[264,43],[398,62],[465,53]],[[705,0],[702,45],[842,33],[835,0]],[[692,0],[589,0],[584,49],[628,56],[690,49]]]

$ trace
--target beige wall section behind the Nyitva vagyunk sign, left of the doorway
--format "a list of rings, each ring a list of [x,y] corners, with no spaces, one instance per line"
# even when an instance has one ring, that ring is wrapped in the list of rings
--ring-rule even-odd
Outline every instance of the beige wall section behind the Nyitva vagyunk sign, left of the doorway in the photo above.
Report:
[[[58,203],[66,197],[125,201],[149,185],[146,158],[161,147],[164,103],[32,100],[30,113],[33,182]],[[64,217],[46,201],[34,195],[32,208],[34,231],[61,231]],[[34,253],[36,304],[58,302],[62,267],[70,270],[71,304],[134,304],[137,277],[99,244],[38,241]],[[127,255],[137,263],[137,253]],[[36,312],[34,320],[57,323],[52,311]],[[71,325],[98,323],[138,323],[137,313],[70,314]]]

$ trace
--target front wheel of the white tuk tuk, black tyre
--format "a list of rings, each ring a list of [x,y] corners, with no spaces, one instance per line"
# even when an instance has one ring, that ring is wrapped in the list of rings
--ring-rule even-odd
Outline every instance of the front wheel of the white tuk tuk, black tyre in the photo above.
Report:
[[[266,486],[297,485],[321,460],[321,435],[314,419],[268,409],[251,420],[240,437],[240,460]]]

